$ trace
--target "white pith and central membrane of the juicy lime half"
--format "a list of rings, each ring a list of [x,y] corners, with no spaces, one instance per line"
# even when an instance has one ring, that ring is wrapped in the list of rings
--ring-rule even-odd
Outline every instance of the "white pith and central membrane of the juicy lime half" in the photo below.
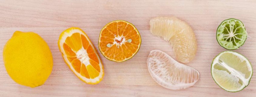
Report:
[[[232,54],[238,56],[238,57],[240,58],[241,62],[242,62],[242,61],[246,61],[246,65],[247,65],[247,67],[248,67],[248,70],[251,72],[251,74],[250,74],[250,76],[248,77],[248,79],[245,79],[245,74],[243,74],[243,73],[241,73],[241,72],[235,70],[234,68],[228,66],[228,65],[227,65],[226,63],[224,63],[222,60],[221,60],[222,62],[218,61],[218,60],[220,60],[219,58],[220,58],[220,56],[221,56],[223,53],[232,53]],[[232,75],[232,76],[234,76],[234,77],[237,77],[237,79],[234,79],[234,80],[238,80],[238,78],[241,79],[242,82],[243,82],[242,86],[241,86],[239,89],[237,89],[237,90],[228,90],[228,89],[224,88],[223,86],[221,86],[219,82],[215,81],[215,79],[214,79],[215,74],[213,73],[213,70],[217,70],[217,69],[214,68],[214,66],[216,65],[216,63],[218,63],[218,64],[220,64],[221,66],[223,66],[224,68],[226,68],[226,69],[230,72],[229,75]],[[249,81],[250,81],[251,76],[252,76],[252,67],[251,67],[251,63],[250,63],[244,56],[242,56],[241,54],[236,53],[236,52],[232,52],[232,51],[225,51],[225,52],[222,52],[222,53],[219,54],[217,57],[215,57],[214,60],[213,60],[213,63],[212,63],[211,68],[212,68],[211,74],[212,74],[212,76],[213,76],[214,81],[215,81],[221,88],[223,88],[223,89],[225,89],[225,90],[227,90],[227,91],[230,91],[230,92],[236,92],[236,91],[240,91],[240,90],[244,89],[244,87],[248,86]],[[228,72],[227,72],[227,71],[224,71],[224,70],[217,70],[217,71],[228,74]]]

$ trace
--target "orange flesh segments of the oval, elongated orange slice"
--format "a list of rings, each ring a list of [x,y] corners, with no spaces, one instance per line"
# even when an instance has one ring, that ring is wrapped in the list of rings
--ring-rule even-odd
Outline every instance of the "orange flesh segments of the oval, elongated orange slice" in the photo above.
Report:
[[[93,46],[84,35],[74,33],[70,37],[67,37],[63,44],[63,49],[75,72],[80,73],[81,76],[88,79],[94,79],[99,76],[100,66],[97,53],[95,53]],[[90,64],[82,63],[83,58],[78,57],[77,52],[82,49],[86,51],[85,57],[89,58]]]

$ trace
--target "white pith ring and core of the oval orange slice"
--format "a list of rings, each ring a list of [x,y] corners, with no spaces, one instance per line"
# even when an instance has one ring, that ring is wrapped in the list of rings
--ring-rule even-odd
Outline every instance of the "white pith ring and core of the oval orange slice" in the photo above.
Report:
[[[97,77],[95,77],[94,79],[88,79],[88,78],[86,78],[86,77],[84,77],[84,76],[81,76],[81,74],[80,73],[78,73],[78,72],[76,72],[75,71],[75,69],[72,67],[72,65],[71,65],[71,63],[69,62],[69,60],[68,60],[68,58],[67,58],[67,56],[66,56],[66,54],[65,54],[65,51],[64,51],[64,48],[62,47],[62,45],[65,43],[65,39],[67,38],[67,37],[70,37],[72,34],[74,34],[74,33],[79,33],[79,34],[82,34],[82,35],[84,35],[85,36],[85,38],[88,40],[88,42],[89,42],[89,44],[92,46],[92,49],[94,50],[94,51],[97,51],[97,50],[95,50],[95,48],[93,47],[93,44],[89,41],[89,39],[88,39],[88,37],[87,37],[87,35],[84,33],[84,32],[82,32],[81,30],[78,30],[78,29],[72,29],[72,30],[70,30],[70,31],[68,31],[68,32],[65,32],[65,34],[61,37],[61,39],[60,39],[60,42],[59,42],[59,44],[61,45],[60,47],[60,49],[61,49],[61,51],[62,51],[62,53],[63,53],[63,58],[64,58],[64,60],[65,60],[65,62],[67,63],[67,65],[69,65],[69,67],[70,67],[70,69],[79,77],[79,78],[81,78],[81,79],[83,79],[85,82],[91,82],[91,83],[95,83],[95,82],[98,82],[99,80],[100,80],[100,78],[103,76],[103,69],[102,69],[102,63],[101,63],[101,60],[100,60],[100,58],[99,58],[99,56],[98,56],[98,54],[96,54],[96,56],[97,56],[97,58],[99,59],[99,66],[100,66],[100,73],[99,73],[99,76],[97,76]],[[81,44],[82,45],[82,44]],[[83,49],[83,50],[82,50]],[[75,51],[74,51],[75,52]],[[82,46],[82,48],[80,49],[80,50],[78,50],[78,52],[75,52],[76,53],[76,55],[77,55],[77,57],[80,57],[80,61],[82,62],[82,63],[86,63],[85,65],[87,66],[88,65],[88,61],[87,62],[83,62],[83,60],[82,59],[89,59],[89,57],[88,57],[88,54],[87,53],[83,53],[84,52],[84,48],[83,48],[83,46]],[[81,53],[83,53],[83,54],[81,54]],[[78,55],[79,54],[79,55]],[[87,58],[88,57],[88,58]],[[81,66],[82,66],[82,64],[81,64]]]

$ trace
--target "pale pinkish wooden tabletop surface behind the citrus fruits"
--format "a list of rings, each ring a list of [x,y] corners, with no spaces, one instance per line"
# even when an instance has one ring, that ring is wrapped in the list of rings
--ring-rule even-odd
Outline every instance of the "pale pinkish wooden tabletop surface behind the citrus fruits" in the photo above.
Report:
[[[0,0],[0,96],[255,97],[255,10],[254,0]],[[148,72],[146,60],[151,50],[162,50],[174,57],[169,43],[149,32],[149,20],[157,16],[176,16],[194,29],[198,51],[195,59],[186,65],[198,70],[200,79],[190,88],[165,89]],[[225,51],[216,40],[216,29],[221,21],[228,18],[240,19],[245,24],[250,37],[234,51],[247,57],[254,68],[249,86],[235,93],[221,89],[213,81],[210,71],[212,59]],[[141,48],[132,59],[123,63],[109,61],[100,53],[104,79],[97,85],[87,85],[64,63],[57,46],[58,37],[69,27],[80,27],[98,50],[99,32],[113,20],[134,24],[141,34]],[[17,30],[38,33],[52,51],[52,74],[42,86],[29,88],[18,85],[5,70],[2,50]]]

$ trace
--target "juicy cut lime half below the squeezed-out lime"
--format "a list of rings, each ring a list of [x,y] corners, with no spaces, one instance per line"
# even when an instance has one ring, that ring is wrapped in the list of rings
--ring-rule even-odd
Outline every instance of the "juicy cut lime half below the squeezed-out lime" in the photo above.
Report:
[[[252,73],[249,60],[232,51],[221,52],[211,64],[212,78],[228,92],[238,92],[248,86]]]

